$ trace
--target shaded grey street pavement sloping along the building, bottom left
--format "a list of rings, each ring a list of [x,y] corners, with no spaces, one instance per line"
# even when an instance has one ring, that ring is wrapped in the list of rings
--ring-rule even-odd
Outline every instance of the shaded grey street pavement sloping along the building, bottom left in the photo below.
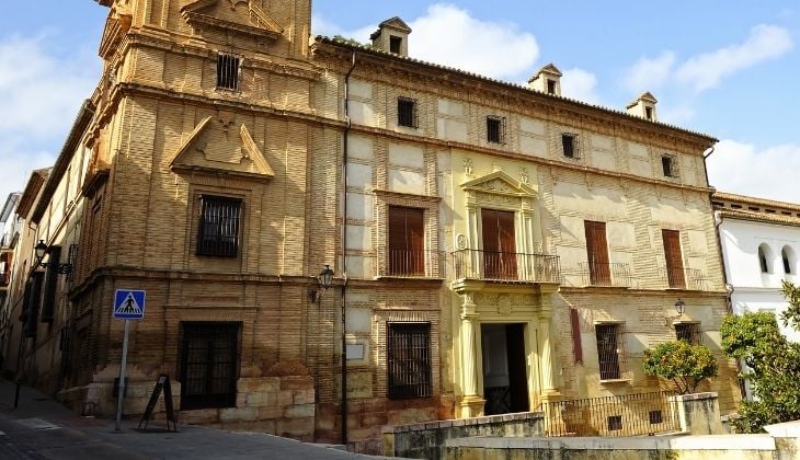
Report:
[[[0,459],[375,459],[260,433],[179,425],[178,433],[139,433],[138,421],[80,417],[52,398],[0,379]],[[159,428],[152,422],[151,428]]]

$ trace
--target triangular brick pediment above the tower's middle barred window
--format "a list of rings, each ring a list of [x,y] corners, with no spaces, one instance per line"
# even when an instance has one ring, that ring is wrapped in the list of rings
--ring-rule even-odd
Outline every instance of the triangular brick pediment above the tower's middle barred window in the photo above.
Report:
[[[275,173],[247,125],[236,123],[235,118],[225,112],[203,118],[181,143],[170,168],[214,175],[273,177]]]

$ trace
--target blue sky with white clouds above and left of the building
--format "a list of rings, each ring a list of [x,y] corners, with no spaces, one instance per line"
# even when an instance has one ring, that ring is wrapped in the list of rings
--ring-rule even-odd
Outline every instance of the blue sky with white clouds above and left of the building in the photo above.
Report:
[[[107,9],[11,2],[0,16],[0,197],[50,164],[100,74]],[[798,1],[313,1],[313,33],[366,42],[399,15],[412,56],[525,82],[556,64],[567,96],[621,110],[643,90],[662,122],[721,141],[721,191],[800,203]]]

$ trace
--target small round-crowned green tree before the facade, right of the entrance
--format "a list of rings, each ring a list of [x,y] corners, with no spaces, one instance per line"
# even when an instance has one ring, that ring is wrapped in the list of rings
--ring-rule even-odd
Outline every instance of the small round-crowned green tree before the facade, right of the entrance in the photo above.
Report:
[[[642,370],[671,380],[678,393],[687,394],[694,393],[702,380],[716,377],[719,366],[708,347],[674,341],[645,349]]]

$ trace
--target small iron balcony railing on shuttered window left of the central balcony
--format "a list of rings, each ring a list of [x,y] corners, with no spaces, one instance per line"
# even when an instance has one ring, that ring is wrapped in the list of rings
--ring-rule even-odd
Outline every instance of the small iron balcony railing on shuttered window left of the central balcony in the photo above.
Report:
[[[445,278],[444,251],[385,250],[379,252],[377,275],[396,278]]]

